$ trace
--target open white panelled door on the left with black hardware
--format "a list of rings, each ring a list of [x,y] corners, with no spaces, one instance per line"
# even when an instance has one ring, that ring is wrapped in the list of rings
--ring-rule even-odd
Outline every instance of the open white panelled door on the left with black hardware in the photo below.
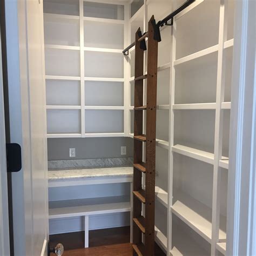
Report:
[[[12,173],[15,255],[46,255],[48,177],[43,3],[5,0],[11,143],[22,147]]]

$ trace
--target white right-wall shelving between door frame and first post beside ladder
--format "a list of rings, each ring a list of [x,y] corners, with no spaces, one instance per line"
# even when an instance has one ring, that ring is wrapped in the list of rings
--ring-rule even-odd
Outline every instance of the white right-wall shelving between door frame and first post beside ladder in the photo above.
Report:
[[[231,2],[198,0],[174,18],[167,232],[171,255],[225,255]],[[191,21],[193,26],[188,25]],[[176,218],[188,234],[196,232],[203,239],[200,245],[179,237],[172,228]],[[211,250],[205,251],[207,245]]]

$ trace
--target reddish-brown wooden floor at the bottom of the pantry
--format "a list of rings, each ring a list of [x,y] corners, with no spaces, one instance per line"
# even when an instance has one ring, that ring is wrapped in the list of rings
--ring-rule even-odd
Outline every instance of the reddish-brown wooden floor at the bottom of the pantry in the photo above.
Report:
[[[58,242],[64,246],[64,256],[113,256],[132,255],[130,227],[108,228],[89,231],[89,248],[84,248],[84,232],[50,235],[50,246]],[[52,256],[55,254],[51,254]],[[156,256],[164,256],[159,246],[155,246]]]

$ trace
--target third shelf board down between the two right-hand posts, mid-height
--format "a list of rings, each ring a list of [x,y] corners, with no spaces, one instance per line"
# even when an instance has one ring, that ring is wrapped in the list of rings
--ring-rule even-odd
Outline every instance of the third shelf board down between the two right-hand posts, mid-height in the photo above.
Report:
[[[187,147],[187,146],[177,144],[172,146],[172,151],[179,154],[183,154],[183,156],[204,161],[205,163],[208,163],[208,164],[213,164],[213,161],[214,161],[213,153],[193,149],[192,147]]]

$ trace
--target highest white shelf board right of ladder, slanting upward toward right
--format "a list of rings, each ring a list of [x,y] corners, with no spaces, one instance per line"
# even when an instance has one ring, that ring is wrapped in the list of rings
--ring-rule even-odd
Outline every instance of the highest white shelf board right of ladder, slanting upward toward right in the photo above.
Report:
[[[174,66],[182,66],[187,67],[188,62],[192,62],[188,64],[190,67],[193,65],[202,65],[204,63],[213,62],[214,60],[217,60],[217,52],[219,49],[219,45],[213,45],[209,48],[206,48],[204,50],[192,53],[191,55],[182,57],[180,59],[177,59],[174,61]]]

